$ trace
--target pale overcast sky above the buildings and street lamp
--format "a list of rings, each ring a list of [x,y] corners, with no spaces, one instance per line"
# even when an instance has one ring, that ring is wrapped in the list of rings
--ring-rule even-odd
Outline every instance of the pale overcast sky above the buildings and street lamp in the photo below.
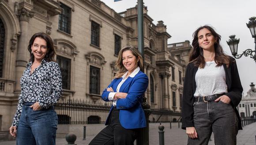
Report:
[[[102,0],[116,12],[135,7],[137,0]],[[154,24],[162,20],[172,36],[168,43],[184,40],[192,42],[192,33],[202,25],[211,25],[222,36],[221,44],[226,54],[231,51],[226,41],[230,35],[240,38],[238,54],[246,49],[254,50],[255,43],[246,23],[256,16],[256,0],[143,0],[148,15]],[[250,82],[256,84],[256,62],[242,56],[237,59],[238,71],[244,94],[250,89]]]

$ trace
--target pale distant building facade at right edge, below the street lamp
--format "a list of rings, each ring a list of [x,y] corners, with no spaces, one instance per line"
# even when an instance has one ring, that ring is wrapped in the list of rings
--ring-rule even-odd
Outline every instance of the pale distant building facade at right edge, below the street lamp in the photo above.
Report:
[[[256,93],[250,89],[237,106],[241,118],[256,118]]]

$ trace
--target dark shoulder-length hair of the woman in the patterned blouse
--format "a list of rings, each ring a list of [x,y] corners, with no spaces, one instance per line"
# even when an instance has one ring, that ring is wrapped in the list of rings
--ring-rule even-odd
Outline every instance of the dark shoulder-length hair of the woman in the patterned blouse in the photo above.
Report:
[[[30,60],[29,61],[34,62],[34,54],[32,53],[31,47],[32,47],[36,37],[39,37],[39,38],[44,39],[46,41],[47,53],[46,53],[45,58],[44,58],[46,60],[46,62],[56,62],[56,60],[54,59],[55,55],[56,55],[56,52],[55,52],[55,49],[54,49],[53,40],[49,35],[47,35],[46,33],[43,33],[43,32],[35,33],[29,40],[29,45],[27,47],[27,49],[30,53]]]

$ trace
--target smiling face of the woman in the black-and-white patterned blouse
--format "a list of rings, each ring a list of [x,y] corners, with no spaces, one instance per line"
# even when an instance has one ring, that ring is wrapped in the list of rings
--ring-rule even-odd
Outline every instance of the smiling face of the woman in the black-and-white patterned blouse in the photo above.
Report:
[[[47,53],[46,41],[40,37],[36,37],[33,45],[31,46],[31,50],[35,61],[41,62]]]

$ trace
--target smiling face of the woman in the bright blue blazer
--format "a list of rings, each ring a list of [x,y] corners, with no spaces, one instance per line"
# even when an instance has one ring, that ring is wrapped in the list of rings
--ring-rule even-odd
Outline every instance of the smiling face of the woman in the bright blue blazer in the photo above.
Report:
[[[123,65],[128,70],[128,72],[133,72],[138,67],[139,58],[137,59],[130,50],[123,52],[122,60]]]

